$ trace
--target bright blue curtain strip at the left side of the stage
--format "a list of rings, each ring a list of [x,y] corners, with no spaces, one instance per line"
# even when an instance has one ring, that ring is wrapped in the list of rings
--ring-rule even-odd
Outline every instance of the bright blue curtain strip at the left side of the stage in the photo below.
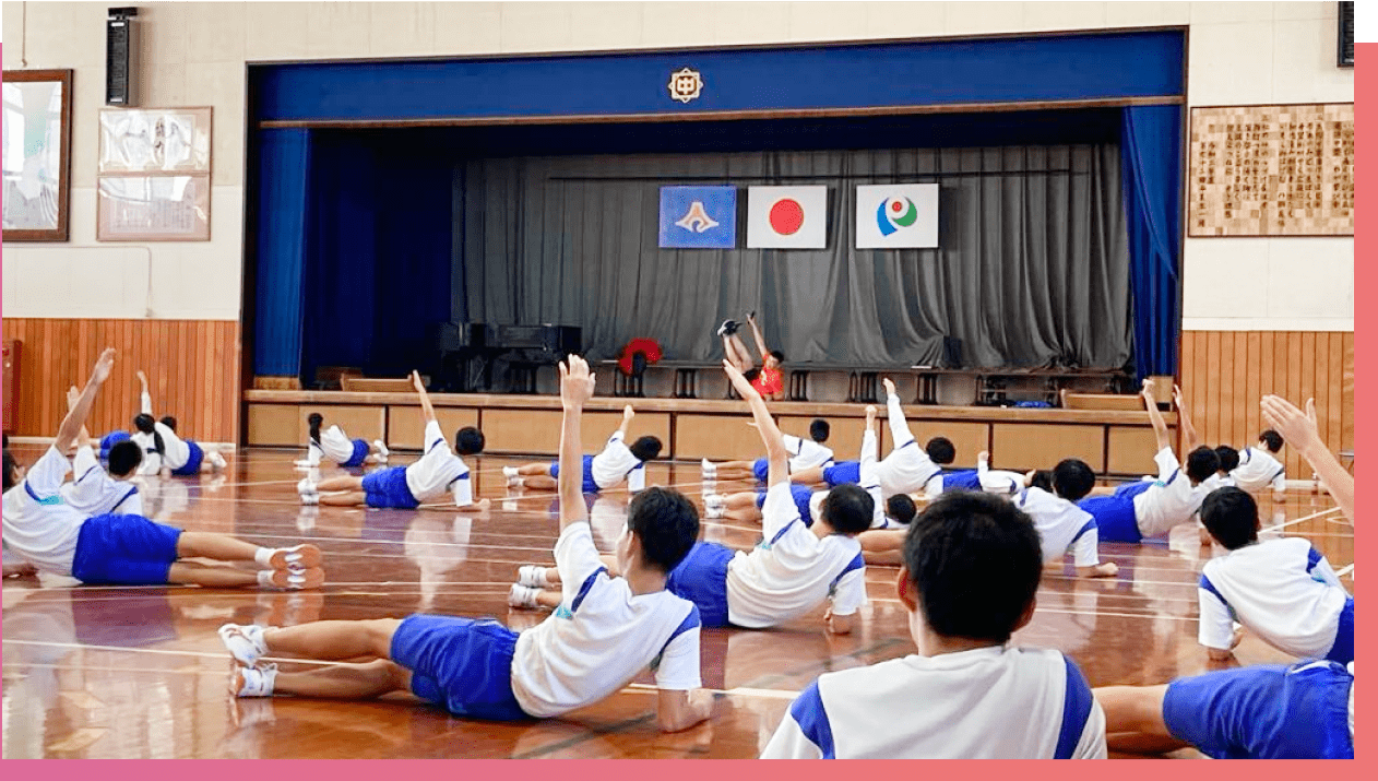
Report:
[[[306,129],[259,131],[259,220],[254,373],[298,376],[302,264],[311,139]]]

